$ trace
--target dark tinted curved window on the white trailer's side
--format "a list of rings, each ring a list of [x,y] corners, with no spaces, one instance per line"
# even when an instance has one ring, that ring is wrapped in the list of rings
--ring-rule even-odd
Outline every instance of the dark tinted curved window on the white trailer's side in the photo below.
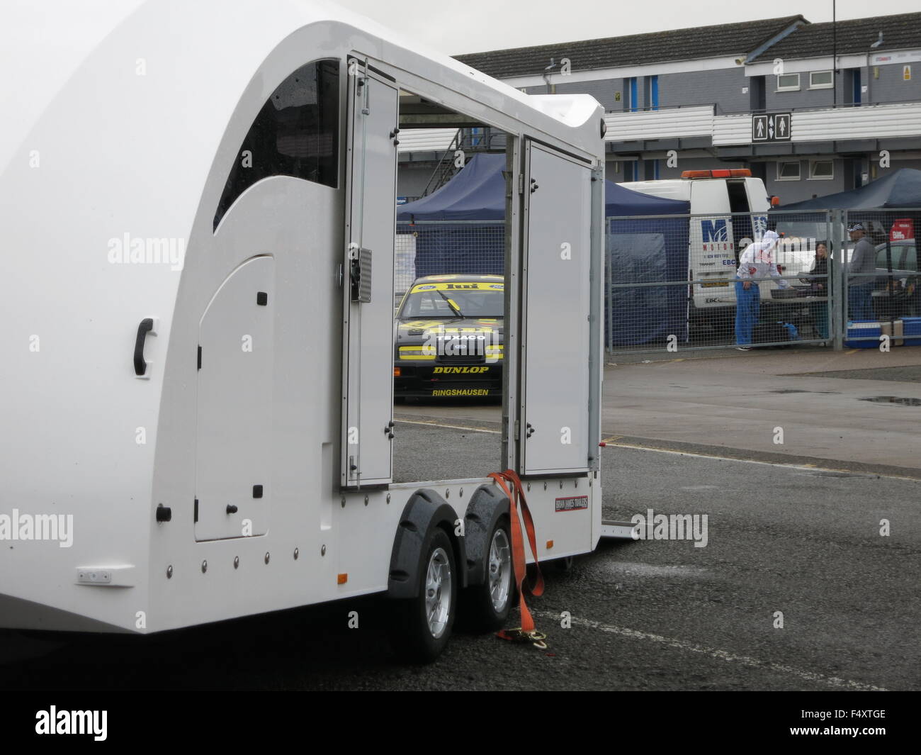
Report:
[[[214,228],[253,183],[291,176],[336,188],[339,184],[339,61],[303,65],[262,105],[240,145]]]

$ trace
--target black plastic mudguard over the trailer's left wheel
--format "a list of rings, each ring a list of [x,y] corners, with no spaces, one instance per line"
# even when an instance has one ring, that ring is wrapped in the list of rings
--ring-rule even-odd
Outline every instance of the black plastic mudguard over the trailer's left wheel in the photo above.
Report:
[[[406,501],[393,538],[391,572],[387,582],[387,595],[394,598],[419,595],[419,566],[423,543],[432,527],[443,527],[454,546],[454,560],[458,564],[459,587],[467,586],[467,553],[463,537],[456,537],[458,515],[435,490],[417,490]]]

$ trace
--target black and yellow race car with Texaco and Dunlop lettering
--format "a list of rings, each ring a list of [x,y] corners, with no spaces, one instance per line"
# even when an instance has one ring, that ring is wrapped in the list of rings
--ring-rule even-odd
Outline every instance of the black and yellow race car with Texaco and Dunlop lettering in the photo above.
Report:
[[[502,395],[504,304],[502,276],[416,278],[394,324],[394,395]]]

